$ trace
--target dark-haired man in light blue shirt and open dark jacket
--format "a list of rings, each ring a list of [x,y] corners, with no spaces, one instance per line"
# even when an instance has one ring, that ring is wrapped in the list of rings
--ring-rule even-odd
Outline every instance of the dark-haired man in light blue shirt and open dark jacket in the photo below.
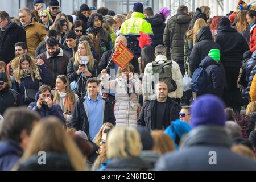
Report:
[[[76,103],[71,119],[71,127],[84,131],[90,140],[93,140],[103,123],[115,125],[111,102],[98,93],[98,84],[97,78],[87,80],[88,93]]]

